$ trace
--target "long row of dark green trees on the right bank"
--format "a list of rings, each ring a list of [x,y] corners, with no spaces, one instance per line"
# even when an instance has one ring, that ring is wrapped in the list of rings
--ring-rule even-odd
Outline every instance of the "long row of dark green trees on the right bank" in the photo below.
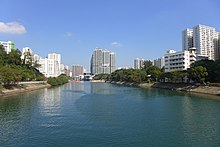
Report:
[[[200,60],[191,65],[188,70],[164,72],[148,63],[142,69],[120,69],[107,76],[106,80],[125,82],[190,82],[201,83],[220,82],[220,60]]]

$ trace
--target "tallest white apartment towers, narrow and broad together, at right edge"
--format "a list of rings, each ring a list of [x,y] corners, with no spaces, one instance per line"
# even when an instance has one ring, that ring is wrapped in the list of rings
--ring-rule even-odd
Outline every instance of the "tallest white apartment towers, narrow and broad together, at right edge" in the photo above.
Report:
[[[193,29],[182,32],[182,49],[196,48],[198,56],[207,57],[209,60],[218,59],[218,32],[214,27],[197,25]]]

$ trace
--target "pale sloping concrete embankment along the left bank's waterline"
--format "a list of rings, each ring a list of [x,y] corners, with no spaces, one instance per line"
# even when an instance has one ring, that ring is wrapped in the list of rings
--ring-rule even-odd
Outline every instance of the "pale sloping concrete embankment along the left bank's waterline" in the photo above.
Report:
[[[0,92],[0,97],[2,96],[9,96],[9,95],[14,95],[17,93],[22,93],[22,92],[27,92],[27,91],[33,91],[33,90],[38,90],[42,88],[48,88],[51,85],[47,83],[28,83],[24,84],[22,87],[12,87],[10,89],[2,89]]]

